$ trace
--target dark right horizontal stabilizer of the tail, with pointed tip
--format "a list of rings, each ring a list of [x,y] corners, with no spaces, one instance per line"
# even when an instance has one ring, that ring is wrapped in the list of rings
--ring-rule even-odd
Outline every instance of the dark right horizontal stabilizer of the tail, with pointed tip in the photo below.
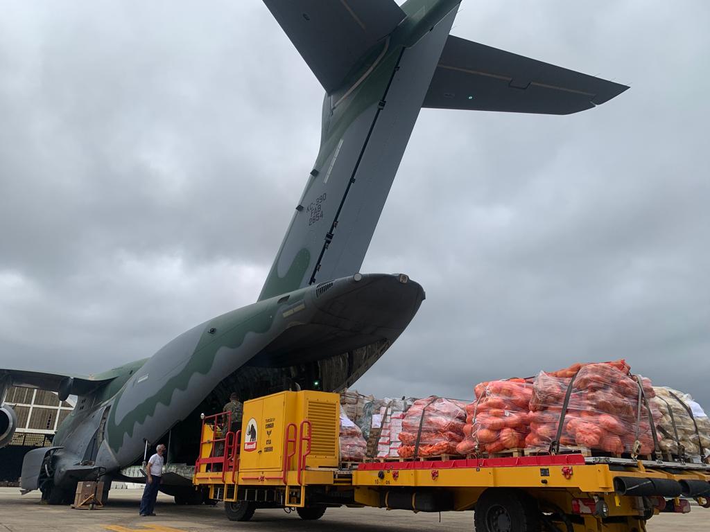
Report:
[[[570,114],[628,87],[449,35],[422,107]]]

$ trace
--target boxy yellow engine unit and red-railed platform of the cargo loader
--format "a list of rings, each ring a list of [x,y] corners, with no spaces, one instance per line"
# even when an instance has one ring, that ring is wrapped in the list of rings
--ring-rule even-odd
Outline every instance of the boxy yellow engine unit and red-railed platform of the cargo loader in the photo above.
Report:
[[[208,485],[210,497],[231,506],[246,501],[249,507],[302,508],[308,485],[334,483],[338,394],[280,392],[252,399],[244,403],[241,430],[230,427],[229,412],[202,419],[193,482]]]

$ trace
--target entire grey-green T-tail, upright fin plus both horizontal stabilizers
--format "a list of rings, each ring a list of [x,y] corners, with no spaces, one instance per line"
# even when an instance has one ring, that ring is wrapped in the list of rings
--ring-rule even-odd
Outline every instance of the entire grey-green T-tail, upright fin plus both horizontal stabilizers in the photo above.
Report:
[[[260,300],[359,270],[422,106],[567,114],[628,88],[449,35],[459,1],[264,0],[326,95]]]

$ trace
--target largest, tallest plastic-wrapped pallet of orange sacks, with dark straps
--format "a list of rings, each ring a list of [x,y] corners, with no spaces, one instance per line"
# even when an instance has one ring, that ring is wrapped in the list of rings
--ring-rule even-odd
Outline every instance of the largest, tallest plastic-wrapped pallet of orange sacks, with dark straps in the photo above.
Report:
[[[563,412],[572,379],[572,390]],[[654,397],[650,380],[639,379],[645,397]],[[557,442],[562,447],[577,445],[615,454],[650,454],[655,444],[645,401],[641,401],[640,411],[638,409],[639,394],[638,382],[628,375],[625,362],[623,365],[618,362],[579,365],[572,377],[540,372],[530,399],[530,434],[525,444],[548,448],[557,440],[562,423]],[[660,419],[660,412],[652,403],[650,410],[653,420]],[[637,440],[638,449],[635,448]]]

